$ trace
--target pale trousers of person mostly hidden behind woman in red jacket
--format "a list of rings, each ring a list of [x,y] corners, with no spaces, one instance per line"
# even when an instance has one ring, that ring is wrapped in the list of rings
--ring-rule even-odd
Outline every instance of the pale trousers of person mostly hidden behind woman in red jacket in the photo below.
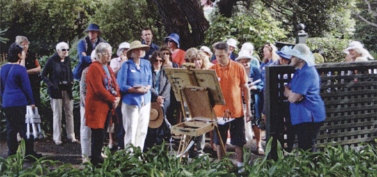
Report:
[[[92,129],[85,125],[85,107],[80,106],[80,142],[82,158],[90,157],[92,145]]]

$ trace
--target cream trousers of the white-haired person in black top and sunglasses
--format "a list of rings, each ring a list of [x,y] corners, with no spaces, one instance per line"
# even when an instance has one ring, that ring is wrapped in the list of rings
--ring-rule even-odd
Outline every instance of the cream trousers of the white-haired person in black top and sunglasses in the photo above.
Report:
[[[67,94],[67,91],[61,92],[63,99],[51,99],[51,109],[53,112],[52,129],[54,141],[61,141],[61,113],[62,106],[65,113],[65,123],[67,129],[67,138],[74,138],[74,126],[73,126],[73,99]]]

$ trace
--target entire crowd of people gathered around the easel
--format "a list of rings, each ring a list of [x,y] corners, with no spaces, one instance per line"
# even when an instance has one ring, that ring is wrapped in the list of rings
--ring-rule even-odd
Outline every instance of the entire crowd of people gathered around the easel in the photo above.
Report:
[[[216,42],[209,47],[180,49],[179,35],[172,33],[159,47],[152,42],[150,28],[141,31],[141,39],[131,43],[122,42],[113,56],[113,48],[100,35],[97,24],[89,24],[88,33],[77,45],[79,63],[71,69],[68,57],[69,44],[56,44],[56,53],[41,66],[30,55],[29,40],[17,36],[8,52],[8,64],[1,66],[1,97],[7,121],[8,155],[17,151],[17,133],[26,139],[24,121],[26,106],[40,106],[40,81],[47,84],[53,112],[53,140],[62,144],[62,108],[65,111],[67,139],[78,143],[74,134],[72,85],[80,82],[80,144],[83,162],[98,165],[103,162],[102,148],[109,133],[109,147],[125,149],[133,144],[147,151],[170,137],[170,126],[178,124],[185,116],[175,99],[166,76],[166,68],[179,68],[191,62],[195,69],[214,69],[218,76],[225,106],[214,106],[217,117],[228,111],[234,121],[219,125],[220,135],[211,134],[211,146],[218,158],[225,154],[220,150],[218,136],[226,144],[230,132],[230,144],[235,146],[237,166],[243,166],[243,146],[246,132],[254,132],[257,153],[264,154],[262,147],[262,121],[266,111],[264,98],[266,67],[292,65],[294,77],[284,85],[284,95],[289,101],[291,124],[298,135],[298,146],[315,151],[314,142],[319,127],[326,119],[324,103],[319,96],[319,75],[315,63],[324,62],[320,51],[312,53],[305,44],[284,46],[280,51],[273,44],[262,47],[262,62],[255,57],[250,42],[242,44],[238,56],[235,39]],[[344,50],[346,61],[373,59],[360,42],[351,42]],[[151,109],[159,107],[163,121],[150,125]],[[251,121],[250,124],[246,124]],[[156,123],[155,121],[153,121]],[[115,146],[115,139],[118,144]],[[203,153],[204,135],[195,138],[195,151]],[[132,149],[128,149],[132,151]],[[26,154],[39,158],[33,150],[33,138],[26,139]]]

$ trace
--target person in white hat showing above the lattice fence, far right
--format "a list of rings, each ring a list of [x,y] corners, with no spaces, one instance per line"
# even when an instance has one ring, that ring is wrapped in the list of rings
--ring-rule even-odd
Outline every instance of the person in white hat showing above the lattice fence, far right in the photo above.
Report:
[[[344,49],[343,52],[346,53],[350,58],[350,60],[346,61],[355,61],[357,59],[358,61],[365,61],[368,60],[368,58],[374,60],[374,57],[371,56],[369,51],[367,49],[364,49],[361,42],[358,41],[351,42],[347,49]]]

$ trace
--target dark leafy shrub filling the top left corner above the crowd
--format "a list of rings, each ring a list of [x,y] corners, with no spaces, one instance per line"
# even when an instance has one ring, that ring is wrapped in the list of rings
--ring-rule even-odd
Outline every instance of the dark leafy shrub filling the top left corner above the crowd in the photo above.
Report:
[[[0,13],[0,26],[8,28],[5,36],[9,39],[0,51],[5,52],[16,35],[26,35],[30,49],[38,55],[48,55],[58,42],[70,43],[81,35],[101,3],[100,0],[0,1],[4,9]]]

